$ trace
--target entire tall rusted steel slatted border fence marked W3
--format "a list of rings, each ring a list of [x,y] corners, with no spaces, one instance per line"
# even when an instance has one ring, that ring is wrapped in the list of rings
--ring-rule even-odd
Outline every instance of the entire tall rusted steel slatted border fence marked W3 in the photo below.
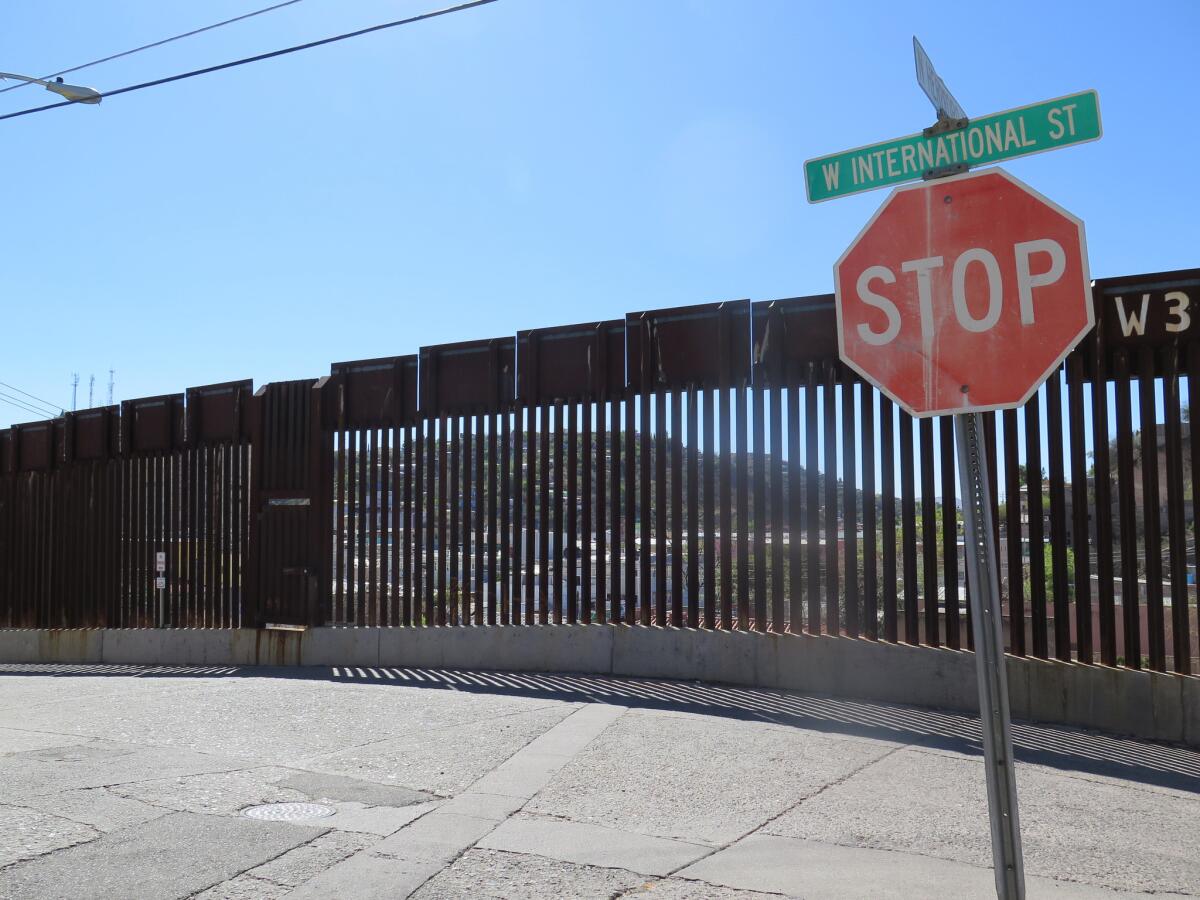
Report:
[[[986,416],[1009,648],[1190,672],[1200,270],[1093,300],[1066,365]],[[637,312],[13,426],[0,624],[967,648],[956,491],[950,421],[840,365],[832,296]]]

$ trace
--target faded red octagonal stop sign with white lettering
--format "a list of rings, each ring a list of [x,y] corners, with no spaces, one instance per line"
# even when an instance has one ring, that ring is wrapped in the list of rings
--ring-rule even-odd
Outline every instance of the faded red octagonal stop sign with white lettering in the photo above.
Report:
[[[913,415],[1020,406],[1093,324],[1084,223],[1000,168],[893,191],[834,283],[842,361]]]

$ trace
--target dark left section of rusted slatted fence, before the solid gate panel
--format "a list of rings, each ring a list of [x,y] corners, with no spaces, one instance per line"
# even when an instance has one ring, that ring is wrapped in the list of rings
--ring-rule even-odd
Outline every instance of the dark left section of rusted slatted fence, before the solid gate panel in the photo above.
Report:
[[[13,426],[0,438],[0,623],[240,624],[248,398],[248,382],[214,385]]]

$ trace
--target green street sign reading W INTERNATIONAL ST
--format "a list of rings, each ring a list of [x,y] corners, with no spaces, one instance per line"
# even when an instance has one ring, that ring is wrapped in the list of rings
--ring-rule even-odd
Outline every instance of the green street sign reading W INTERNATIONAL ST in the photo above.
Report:
[[[985,166],[1098,140],[1094,90],[972,119],[965,128],[907,137],[818,156],[804,163],[809,203],[914,181],[952,166]]]

